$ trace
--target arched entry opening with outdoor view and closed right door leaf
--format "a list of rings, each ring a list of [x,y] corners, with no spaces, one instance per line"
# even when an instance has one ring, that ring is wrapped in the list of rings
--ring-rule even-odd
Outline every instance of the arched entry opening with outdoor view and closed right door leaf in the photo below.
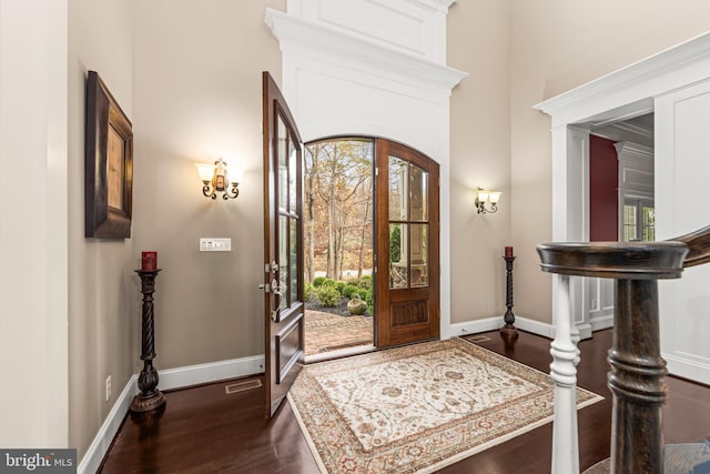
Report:
[[[386,139],[305,144],[308,361],[439,336],[438,164]]]

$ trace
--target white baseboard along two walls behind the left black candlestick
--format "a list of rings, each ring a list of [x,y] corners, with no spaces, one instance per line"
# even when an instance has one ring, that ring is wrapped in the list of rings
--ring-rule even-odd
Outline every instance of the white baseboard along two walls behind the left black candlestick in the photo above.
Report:
[[[253,355],[251,357],[158,371],[160,377],[158,387],[160,390],[182,389],[261,372],[264,372],[264,356]],[[111,407],[89,450],[81,458],[77,468],[78,474],[94,474],[97,472],[101,461],[103,461],[103,456],[105,456],[111,446],[111,442],[119,432],[125,414],[129,412],[133,397],[138,393],[138,374],[134,374],[123,387],[121,395]]]

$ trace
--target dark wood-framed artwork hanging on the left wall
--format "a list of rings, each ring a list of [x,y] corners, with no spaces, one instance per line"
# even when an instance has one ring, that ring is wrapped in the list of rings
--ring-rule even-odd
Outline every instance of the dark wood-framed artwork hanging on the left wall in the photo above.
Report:
[[[131,236],[133,131],[95,71],[87,77],[84,212],[88,238]]]

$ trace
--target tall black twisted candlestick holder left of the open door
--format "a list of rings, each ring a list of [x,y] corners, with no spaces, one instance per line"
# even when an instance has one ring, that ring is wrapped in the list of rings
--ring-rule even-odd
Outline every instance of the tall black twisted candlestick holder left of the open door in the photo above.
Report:
[[[143,293],[143,319],[141,327],[141,359],[143,370],[138,376],[138,387],[141,393],[131,402],[132,412],[150,412],[165,403],[165,395],[158,390],[158,371],[153,366],[155,359],[155,333],[153,326],[153,293],[155,278],[160,270],[136,270],[141,278],[141,293]]]

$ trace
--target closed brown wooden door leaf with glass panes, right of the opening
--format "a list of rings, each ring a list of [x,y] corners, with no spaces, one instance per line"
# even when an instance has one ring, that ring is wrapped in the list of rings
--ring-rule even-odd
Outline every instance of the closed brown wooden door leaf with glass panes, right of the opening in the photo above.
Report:
[[[387,140],[375,149],[376,345],[438,339],[438,164]]]

